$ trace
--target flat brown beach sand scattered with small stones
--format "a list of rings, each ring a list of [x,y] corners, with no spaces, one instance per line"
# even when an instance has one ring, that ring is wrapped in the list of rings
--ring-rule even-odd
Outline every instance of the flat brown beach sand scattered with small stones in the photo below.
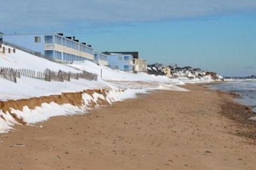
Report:
[[[186,85],[0,135],[0,169],[256,169],[250,109]]]

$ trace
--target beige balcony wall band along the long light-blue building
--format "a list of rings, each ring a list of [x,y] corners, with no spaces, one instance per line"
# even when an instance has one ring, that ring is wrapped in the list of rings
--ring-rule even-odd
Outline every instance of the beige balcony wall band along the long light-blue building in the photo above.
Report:
[[[44,46],[44,50],[56,50],[59,52],[64,52],[64,53],[69,53],[69,54],[73,54],[73,55],[77,55],[77,56],[82,56],[86,59],[89,60],[94,60],[94,55],[89,54],[89,53],[85,53],[82,51],[76,51],[72,48],[66,47],[66,46],[62,46],[59,44],[45,44]]]

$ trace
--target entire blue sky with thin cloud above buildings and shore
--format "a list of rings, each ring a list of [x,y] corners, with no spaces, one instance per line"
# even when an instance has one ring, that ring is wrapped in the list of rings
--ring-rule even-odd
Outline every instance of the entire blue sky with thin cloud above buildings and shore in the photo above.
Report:
[[[64,33],[148,63],[256,75],[256,0],[1,0],[0,32]]]

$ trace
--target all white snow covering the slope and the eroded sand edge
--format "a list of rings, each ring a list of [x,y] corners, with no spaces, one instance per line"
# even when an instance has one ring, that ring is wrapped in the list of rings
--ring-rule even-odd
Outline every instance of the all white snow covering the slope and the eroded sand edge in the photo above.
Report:
[[[7,47],[8,48],[8,47]],[[67,66],[54,63],[38,56],[34,56],[20,50],[16,53],[0,53],[0,67],[10,67],[14,69],[31,69],[35,71],[44,71],[46,68],[53,71],[81,72],[85,70],[98,75],[98,81],[89,81],[86,79],[71,79],[70,82],[45,82],[43,80],[21,77],[17,83],[9,82],[0,78],[0,101],[39,98],[40,96],[57,95],[62,93],[81,92],[84,90],[103,89],[109,90],[106,98],[102,94],[93,93],[92,95],[84,93],[82,95],[83,106],[76,107],[71,104],[42,103],[40,107],[31,110],[24,106],[22,110],[11,109],[11,114],[17,115],[27,124],[35,124],[45,121],[53,116],[65,116],[85,113],[90,109],[90,103],[94,102],[100,106],[100,100],[106,100],[110,104],[117,101],[136,98],[137,94],[146,94],[156,90],[187,90],[177,85],[185,83],[198,83],[212,81],[211,76],[204,78],[187,78],[189,73],[181,74],[178,78],[169,78],[167,76],[148,75],[144,72],[132,74],[119,70],[113,70],[106,66],[98,66],[90,61],[74,62]],[[156,68],[153,67],[154,70]],[[102,70],[102,78],[100,78]],[[194,75],[189,75],[193,77]],[[9,112],[4,113],[0,110],[0,133],[8,132],[13,125],[18,124]]]

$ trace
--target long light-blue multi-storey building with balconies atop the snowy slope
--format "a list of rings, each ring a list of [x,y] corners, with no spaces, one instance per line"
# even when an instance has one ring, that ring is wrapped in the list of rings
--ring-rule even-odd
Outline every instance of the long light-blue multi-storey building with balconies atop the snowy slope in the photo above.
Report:
[[[75,37],[63,34],[1,34],[4,43],[21,46],[34,51],[38,56],[47,56],[56,61],[94,60],[93,48],[79,43]]]

